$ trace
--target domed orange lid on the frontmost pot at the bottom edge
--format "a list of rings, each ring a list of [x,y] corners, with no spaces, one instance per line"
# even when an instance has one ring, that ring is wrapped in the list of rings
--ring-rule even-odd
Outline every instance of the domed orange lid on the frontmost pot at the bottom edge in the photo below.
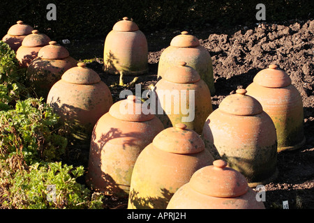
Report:
[[[195,171],[189,184],[193,190],[211,197],[239,197],[248,191],[246,178],[223,160]]]

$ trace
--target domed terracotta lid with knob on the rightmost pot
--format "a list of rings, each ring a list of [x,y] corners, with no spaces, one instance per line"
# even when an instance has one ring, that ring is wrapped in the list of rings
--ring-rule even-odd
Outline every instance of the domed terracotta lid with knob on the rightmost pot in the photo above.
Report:
[[[269,88],[282,88],[292,83],[289,75],[276,64],[271,64],[267,69],[257,72],[253,82]]]

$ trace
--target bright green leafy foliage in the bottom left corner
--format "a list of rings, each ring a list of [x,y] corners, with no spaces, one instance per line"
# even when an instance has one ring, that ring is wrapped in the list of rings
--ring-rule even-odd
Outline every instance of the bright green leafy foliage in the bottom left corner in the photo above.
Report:
[[[83,174],[83,167],[73,168],[61,162],[33,164],[29,171],[2,176],[10,185],[2,205],[19,209],[101,208],[103,197],[91,201],[91,191],[77,183]]]

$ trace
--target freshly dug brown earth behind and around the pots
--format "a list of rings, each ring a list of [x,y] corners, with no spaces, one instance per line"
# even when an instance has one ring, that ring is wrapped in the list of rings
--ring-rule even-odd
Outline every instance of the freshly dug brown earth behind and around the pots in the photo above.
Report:
[[[266,208],[314,208],[314,21],[292,20],[281,24],[255,24],[252,27],[237,26],[223,30],[220,27],[202,31],[188,30],[200,39],[211,54],[214,66],[215,95],[211,95],[214,109],[227,95],[239,88],[246,88],[253,77],[271,63],[276,63],[292,79],[301,93],[304,103],[304,130],[306,144],[297,151],[278,153],[278,178],[265,185]],[[156,84],[158,60],[170,40],[180,31],[146,33],[149,44],[149,73],[139,76],[136,84],[147,89]],[[119,77],[105,74],[102,68],[103,43],[105,39],[88,40],[66,45],[76,59],[86,60],[87,66],[96,70],[103,81],[111,86],[119,84]],[[88,52],[93,52],[89,54]],[[94,59],[93,59],[94,58]],[[127,84],[134,77],[124,77]],[[114,101],[119,100],[123,89],[135,90],[134,86],[111,86]],[[79,157],[78,155],[77,157]],[[83,164],[87,160],[83,159]],[[126,208],[126,199],[107,198],[107,208]]]

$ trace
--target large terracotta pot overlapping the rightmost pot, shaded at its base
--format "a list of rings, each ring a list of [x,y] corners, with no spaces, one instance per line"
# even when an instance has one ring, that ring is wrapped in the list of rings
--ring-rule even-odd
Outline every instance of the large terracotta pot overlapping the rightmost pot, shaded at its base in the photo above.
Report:
[[[202,139],[216,159],[223,159],[255,187],[276,178],[277,137],[269,115],[245,89],[228,95],[204,124]]]

